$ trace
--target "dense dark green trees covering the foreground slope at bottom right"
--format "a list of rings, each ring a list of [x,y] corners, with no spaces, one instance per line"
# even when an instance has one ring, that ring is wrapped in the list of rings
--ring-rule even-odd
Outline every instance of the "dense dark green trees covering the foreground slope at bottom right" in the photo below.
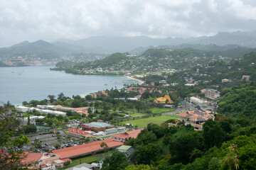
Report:
[[[167,170],[255,169],[256,130],[250,123],[242,128],[241,120],[218,115],[216,120],[206,121],[203,131],[194,131],[191,125],[168,127],[166,123],[150,123],[137,139],[125,143],[135,148],[131,159],[135,165],[127,166],[131,163],[126,159],[111,162],[116,159],[112,155],[103,169],[111,169],[117,162],[124,165],[117,169],[127,170],[139,166]]]

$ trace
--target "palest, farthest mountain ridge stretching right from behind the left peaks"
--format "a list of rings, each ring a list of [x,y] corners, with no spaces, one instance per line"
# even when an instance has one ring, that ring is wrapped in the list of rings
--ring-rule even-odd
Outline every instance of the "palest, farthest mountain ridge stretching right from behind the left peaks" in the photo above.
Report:
[[[138,47],[161,46],[161,45],[240,45],[243,47],[256,47],[256,32],[233,32],[218,33],[213,36],[198,38],[149,38],[146,36],[129,37],[107,37],[97,36],[80,40],[59,40],[72,45],[82,47],[101,47],[107,52],[129,52]]]

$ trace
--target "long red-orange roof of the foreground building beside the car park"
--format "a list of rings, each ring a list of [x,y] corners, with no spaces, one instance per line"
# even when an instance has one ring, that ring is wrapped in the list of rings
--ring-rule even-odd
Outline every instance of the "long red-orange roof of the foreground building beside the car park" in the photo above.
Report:
[[[105,142],[109,148],[116,148],[123,145],[123,142],[114,141],[112,139],[100,140],[95,142],[90,142],[87,144],[82,144],[74,147],[66,147],[63,149],[56,149],[52,152],[54,154],[60,155],[60,159],[80,157],[86,154],[94,154],[96,152],[102,151],[104,148],[100,147],[102,142]]]

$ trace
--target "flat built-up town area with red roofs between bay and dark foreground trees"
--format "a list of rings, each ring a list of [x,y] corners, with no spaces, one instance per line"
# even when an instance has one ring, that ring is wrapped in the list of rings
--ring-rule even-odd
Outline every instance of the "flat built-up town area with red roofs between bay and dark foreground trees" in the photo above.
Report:
[[[134,94],[134,96],[116,97],[114,101],[138,102],[142,100],[145,93],[157,93],[162,96],[165,93],[161,89],[166,87],[164,86],[166,82],[160,81],[159,83],[163,86],[142,84],[141,86],[116,89],[117,93],[123,91],[126,94]],[[26,135],[31,142],[28,145],[23,145],[23,147],[16,147],[13,151],[21,150],[26,154],[26,158],[22,162],[36,162],[31,168],[60,169],[72,166],[72,162],[75,162],[79,157],[92,157],[95,161],[79,166],[101,169],[106,151],[111,153],[117,149],[130,157],[134,152],[134,147],[125,145],[125,143],[131,138],[136,139],[139,132],[144,130],[148,123],[154,123],[154,118],[161,120],[165,116],[166,120],[174,120],[174,122],[166,124],[169,127],[189,124],[194,130],[202,130],[206,120],[214,120],[215,101],[220,98],[219,91],[202,89],[201,94],[205,95],[204,98],[191,96],[185,101],[178,101],[177,104],[175,98],[172,99],[169,94],[165,94],[163,97],[155,98],[151,103],[153,108],[149,109],[152,106],[146,106],[149,107],[146,110],[136,106],[137,111],[123,106],[119,106],[119,108],[100,106],[104,102],[101,100],[110,98],[111,93],[112,91],[98,91],[88,94],[84,96],[84,100],[87,99],[88,101],[88,106],[79,108],[52,104],[31,107],[33,103],[27,102],[23,103],[26,106],[16,106],[15,109],[18,113],[16,118],[20,120],[21,126],[27,128]],[[78,96],[75,98],[82,100]],[[65,98],[63,94],[60,94],[58,99],[60,101],[70,100]],[[54,101],[53,103],[59,102]],[[116,109],[118,111],[114,112]],[[114,117],[102,117],[101,114],[104,111],[110,112],[110,114],[114,113]],[[56,118],[57,122],[50,121],[50,118]],[[151,120],[147,120],[149,118]],[[138,120],[142,120],[144,125],[137,124],[135,121]],[[164,120],[161,122],[164,123]],[[36,129],[32,127],[36,127]],[[9,149],[6,148],[4,152],[9,152]]]

